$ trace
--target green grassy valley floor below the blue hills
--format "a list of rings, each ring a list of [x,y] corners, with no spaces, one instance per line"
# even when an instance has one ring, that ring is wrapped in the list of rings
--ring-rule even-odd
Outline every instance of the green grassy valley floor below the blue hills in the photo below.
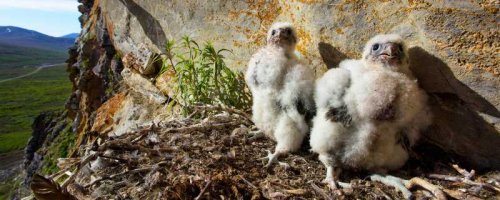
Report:
[[[33,118],[44,111],[62,110],[70,91],[65,65],[0,82],[0,153],[23,148],[31,136]]]

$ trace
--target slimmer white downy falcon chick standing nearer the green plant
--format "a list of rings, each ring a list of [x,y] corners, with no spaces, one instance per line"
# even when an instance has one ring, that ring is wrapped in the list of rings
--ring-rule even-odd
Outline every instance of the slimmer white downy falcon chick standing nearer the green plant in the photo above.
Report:
[[[252,120],[277,142],[274,153],[265,157],[266,167],[301,147],[315,110],[314,76],[294,54],[297,40],[290,23],[273,24],[267,45],[252,56],[245,74],[253,96]]]

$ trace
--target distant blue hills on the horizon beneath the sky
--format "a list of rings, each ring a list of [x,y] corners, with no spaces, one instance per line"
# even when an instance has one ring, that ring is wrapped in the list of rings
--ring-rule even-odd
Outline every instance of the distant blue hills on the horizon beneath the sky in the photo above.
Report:
[[[0,44],[4,45],[66,52],[74,43],[74,37],[52,37],[15,26],[0,26]]]

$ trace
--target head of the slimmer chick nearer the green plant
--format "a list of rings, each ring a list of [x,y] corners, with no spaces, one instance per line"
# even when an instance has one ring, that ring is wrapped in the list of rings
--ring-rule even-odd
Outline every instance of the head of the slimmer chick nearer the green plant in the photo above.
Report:
[[[285,49],[295,49],[297,35],[293,25],[288,22],[274,23],[267,32],[267,44],[277,45]]]

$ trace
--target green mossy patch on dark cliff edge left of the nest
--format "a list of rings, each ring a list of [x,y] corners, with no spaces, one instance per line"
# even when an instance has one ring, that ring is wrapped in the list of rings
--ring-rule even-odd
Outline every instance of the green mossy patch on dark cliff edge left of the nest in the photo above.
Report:
[[[67,125],[64,130],[54,139],[45,152],[42,165],[42,174],[53,174],[59,170],[57,167],[58,158],[66,158],[74,147],[76,135]]]

